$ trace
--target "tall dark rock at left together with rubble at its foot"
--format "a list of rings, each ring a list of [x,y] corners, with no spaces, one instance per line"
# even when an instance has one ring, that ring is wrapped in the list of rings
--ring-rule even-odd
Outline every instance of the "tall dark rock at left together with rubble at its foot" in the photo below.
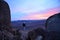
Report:
[[[9,5],[4,0],[0,0],[0,40],[21,40],[21,33],[13,29],[10,22]]]

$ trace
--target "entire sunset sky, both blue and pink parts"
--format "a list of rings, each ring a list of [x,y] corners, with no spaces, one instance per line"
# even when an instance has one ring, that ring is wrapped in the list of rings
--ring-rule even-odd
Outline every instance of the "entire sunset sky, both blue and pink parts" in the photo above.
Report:
[[[11,20],[41,20],[60,12],[60,0],[5,0]]]

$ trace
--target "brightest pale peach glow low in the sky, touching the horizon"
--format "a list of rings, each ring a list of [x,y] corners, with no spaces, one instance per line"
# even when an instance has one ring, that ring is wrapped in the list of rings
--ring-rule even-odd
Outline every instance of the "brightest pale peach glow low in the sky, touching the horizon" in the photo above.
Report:
[[[45,19],[45,18],[46,17],[44,17],[44,15],[34,14],[34,15],[26,16],[26,17],[22,18],[22,20],[41,20],[41,19]]]

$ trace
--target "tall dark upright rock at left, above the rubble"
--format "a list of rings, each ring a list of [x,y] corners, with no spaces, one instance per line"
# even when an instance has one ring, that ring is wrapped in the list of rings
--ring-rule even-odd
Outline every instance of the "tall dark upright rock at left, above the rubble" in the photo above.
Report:
[[[2,26],[10,26],[11,18],[10,18],[10,9],[9,5],[0,0],[0,25]]]

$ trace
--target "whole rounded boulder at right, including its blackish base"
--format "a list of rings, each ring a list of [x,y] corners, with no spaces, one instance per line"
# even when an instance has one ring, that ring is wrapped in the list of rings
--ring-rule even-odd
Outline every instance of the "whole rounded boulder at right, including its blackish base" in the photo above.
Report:
[[[50,16],[46,20],[46,40],[60,40],[60,13]]]

